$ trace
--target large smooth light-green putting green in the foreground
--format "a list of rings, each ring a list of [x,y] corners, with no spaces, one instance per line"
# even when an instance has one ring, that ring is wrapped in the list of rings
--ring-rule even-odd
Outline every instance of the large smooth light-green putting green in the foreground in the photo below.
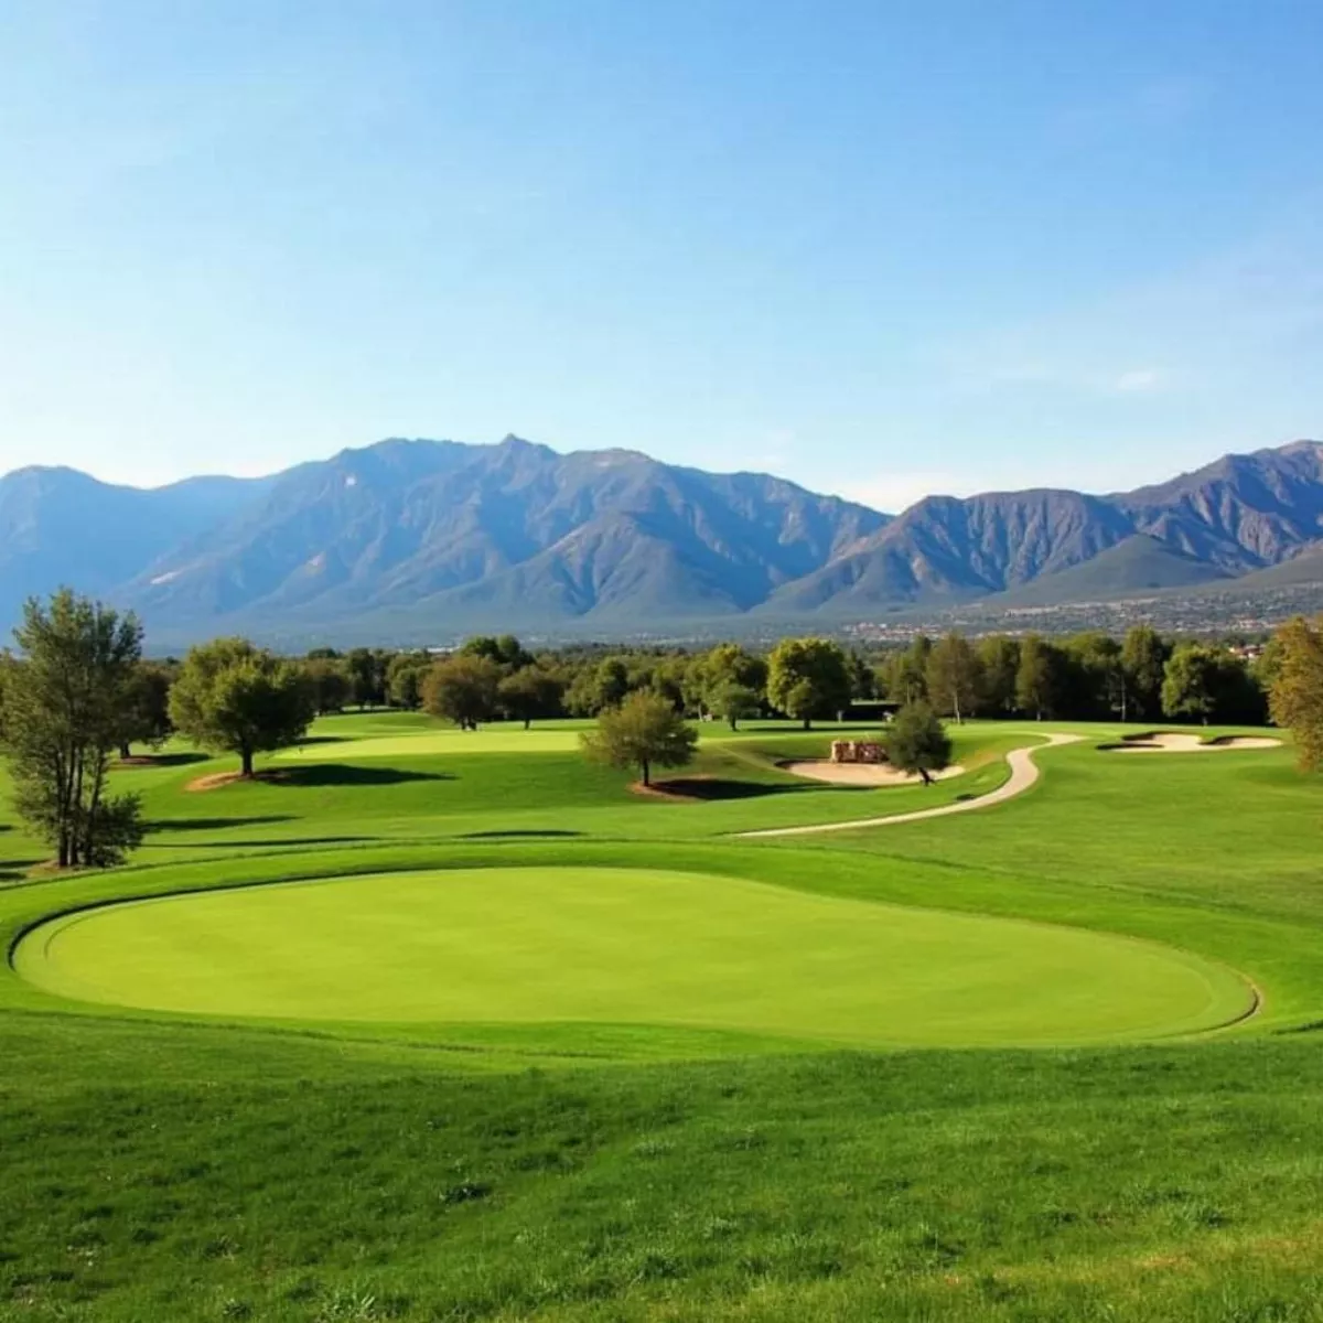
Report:
[[[15,964],[64,996],[163,1011],[871,1045],[1147,1037],[1252,1004],[1229,970],[1127,938],[624,868],[388,873],[127,902],[42,925]]]

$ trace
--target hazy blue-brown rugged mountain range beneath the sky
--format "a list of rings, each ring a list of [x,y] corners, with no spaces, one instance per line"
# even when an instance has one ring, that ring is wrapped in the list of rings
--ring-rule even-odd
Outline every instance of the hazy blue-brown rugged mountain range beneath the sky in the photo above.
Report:
[[[67,468],[0,478],[0,624],[70,583],[172,643],[840,624],[1258,576],[1323,581],[1320,442],[1132,492],[930,496],[894,517],[765,474],[516,437],[390,439],[271,478],[155,490]]]

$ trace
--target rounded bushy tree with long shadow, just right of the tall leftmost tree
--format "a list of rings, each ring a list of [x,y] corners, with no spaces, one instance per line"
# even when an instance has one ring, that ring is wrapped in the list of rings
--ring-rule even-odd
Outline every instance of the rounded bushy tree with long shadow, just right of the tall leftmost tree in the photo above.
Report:
[[[169,696],[171,720],[204,749],[239,755],[243,777],[259,753],[295,744],[314,717],[303,671],[247,639],[193,648]]]

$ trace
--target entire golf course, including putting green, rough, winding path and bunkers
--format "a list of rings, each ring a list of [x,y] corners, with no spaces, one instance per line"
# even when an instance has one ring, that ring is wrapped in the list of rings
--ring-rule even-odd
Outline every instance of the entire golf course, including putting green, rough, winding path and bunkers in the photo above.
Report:
[[[0,822],[0,1316],[1323,1318],[1289,734],[590,728],[176,737],[102,872]]]

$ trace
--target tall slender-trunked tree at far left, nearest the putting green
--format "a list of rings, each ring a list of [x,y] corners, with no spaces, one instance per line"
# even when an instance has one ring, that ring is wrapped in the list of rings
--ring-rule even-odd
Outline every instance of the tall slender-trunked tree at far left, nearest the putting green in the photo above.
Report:
[[[142,638],[135,617],[67,589],[46,605],[30,598],[15,630],[20,656],[4,660],[0,742],[15,807],[61,868],[105,868],[142,841],[138,796],[106,794]]]

